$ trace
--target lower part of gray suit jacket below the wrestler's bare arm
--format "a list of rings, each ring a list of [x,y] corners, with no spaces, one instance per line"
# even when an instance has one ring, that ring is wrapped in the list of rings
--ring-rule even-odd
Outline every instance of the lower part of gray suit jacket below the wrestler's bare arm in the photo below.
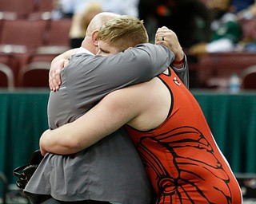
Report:
[[[123,130],[76,155],[47,154],[36,174],[30,190],[58,200],[151,203],[150,182]]]

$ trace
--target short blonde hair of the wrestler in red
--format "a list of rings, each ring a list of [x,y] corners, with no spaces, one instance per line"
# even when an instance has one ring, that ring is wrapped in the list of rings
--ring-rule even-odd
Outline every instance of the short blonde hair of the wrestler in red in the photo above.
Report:
[[[149,41],[143,21],[130,16],[114,18],[98,31],[98,40],[105,41],[123,51]]]

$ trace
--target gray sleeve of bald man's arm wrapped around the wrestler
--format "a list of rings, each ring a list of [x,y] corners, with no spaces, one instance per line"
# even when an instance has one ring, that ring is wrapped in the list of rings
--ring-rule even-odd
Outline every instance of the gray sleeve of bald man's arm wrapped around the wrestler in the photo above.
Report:
[[[174,53],[166,46],[146,43],[108,57],[76,55],[70,61],[70,68],[83,68],[79,69],[83,76],[80,81],[85,84],[93,78],[97,84],[115,89],[151,80],[165,71],[172,61]]]

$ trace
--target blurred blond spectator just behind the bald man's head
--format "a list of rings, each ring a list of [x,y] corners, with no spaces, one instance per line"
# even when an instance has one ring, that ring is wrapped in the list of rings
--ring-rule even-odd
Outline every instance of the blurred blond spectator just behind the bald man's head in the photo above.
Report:
[[[78,48],[81,46],[86,36],[86,29],[90,21],[98,13],[102,12],[102,5],[97,2],[90,2],[83,12],[73,15],[70,28],[70,47]]]

